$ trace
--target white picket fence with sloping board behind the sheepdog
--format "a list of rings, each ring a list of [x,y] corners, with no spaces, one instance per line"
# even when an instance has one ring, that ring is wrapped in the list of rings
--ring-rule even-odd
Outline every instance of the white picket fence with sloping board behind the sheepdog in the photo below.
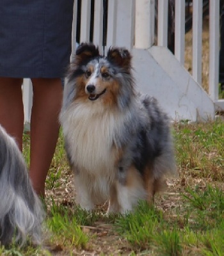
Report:
[[[184,68],[185,0],[175,0],[175,56],[167,49],[168,0],[158,0],[157,45],[154,44],[155,0],[108,0],[107,50],[111,45],[132,52],[139,89],[156,97],[173,120],[213,119],[218,99],[219,13],[216,0],[209,6],[209,95],[202,84],[202,2],[193,0],[193,74]],[[80,42],[90,41],[91,1],[81,1]],[[102,53],[103,0],[95,0],[93,43]],[[77,0],[74,1],[72,52],[76,51]],[[31,86],[24,82],[25,122],[31,114]]]

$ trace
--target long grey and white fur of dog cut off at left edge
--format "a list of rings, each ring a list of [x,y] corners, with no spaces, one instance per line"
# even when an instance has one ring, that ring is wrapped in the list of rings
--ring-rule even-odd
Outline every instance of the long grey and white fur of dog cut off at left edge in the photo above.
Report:
[[[40,243],[44,210],[13,138],[0,126],[0,242]]]

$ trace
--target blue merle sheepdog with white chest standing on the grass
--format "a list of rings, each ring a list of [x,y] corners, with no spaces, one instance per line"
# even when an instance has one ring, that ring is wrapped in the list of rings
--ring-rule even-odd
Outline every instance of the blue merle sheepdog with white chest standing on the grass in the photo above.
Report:
[[[100,56],[81,44],[70,64],[60,122],[75,174],[77,203],[108,212],[152,203],[164,175],[175,173],[168,117],[156,99],[136,93],[131,54],[111,48]]]

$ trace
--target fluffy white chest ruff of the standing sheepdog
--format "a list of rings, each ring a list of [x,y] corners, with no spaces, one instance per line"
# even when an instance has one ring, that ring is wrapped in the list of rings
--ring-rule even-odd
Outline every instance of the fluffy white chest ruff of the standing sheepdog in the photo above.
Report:
[[[77,168],[90,175],[113,172],[115,154],[113,138],[119,118],[111,113],[96,113],[93,108],[79,104],[70,108],[63,120],[71,160]],[[83,171],[82,171],[83,172]]]

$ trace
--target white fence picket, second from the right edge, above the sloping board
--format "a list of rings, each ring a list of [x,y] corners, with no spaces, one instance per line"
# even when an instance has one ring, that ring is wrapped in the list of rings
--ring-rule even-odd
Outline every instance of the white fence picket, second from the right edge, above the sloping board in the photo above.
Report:
[[[202,4],[203,0],[193,1],[192,74],[198,84],[202,84]]]

